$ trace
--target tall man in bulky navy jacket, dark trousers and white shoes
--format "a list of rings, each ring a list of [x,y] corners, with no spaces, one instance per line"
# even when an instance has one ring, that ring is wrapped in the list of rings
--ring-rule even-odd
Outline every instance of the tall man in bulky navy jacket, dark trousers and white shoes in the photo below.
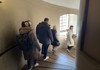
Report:
[[[49,58],[47,51],[49,44],[53,42],[53,36],[50,25],[48,24],[49,19],[45,18],[43,22],[39,23],[36,27],[36,35],[39,42],[42,44],[42,52],[44,61]]]

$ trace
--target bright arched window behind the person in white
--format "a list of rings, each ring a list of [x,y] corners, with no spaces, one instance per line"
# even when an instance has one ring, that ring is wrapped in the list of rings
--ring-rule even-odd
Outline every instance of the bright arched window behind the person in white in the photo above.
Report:
[[[75,14],[65,14],[60,16],[60,35],[66,37],[67,29],[70,25],[74,26],[73,33],[77,33],[77,15]]]

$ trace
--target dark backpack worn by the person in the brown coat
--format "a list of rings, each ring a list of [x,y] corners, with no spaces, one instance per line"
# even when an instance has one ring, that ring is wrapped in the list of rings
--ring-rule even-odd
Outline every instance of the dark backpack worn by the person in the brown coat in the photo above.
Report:
[[[28,51],[32,49],[31,39],[29,38],[29,32],[25,34],[19,34],[17,36],[17,44],[22,51]]]

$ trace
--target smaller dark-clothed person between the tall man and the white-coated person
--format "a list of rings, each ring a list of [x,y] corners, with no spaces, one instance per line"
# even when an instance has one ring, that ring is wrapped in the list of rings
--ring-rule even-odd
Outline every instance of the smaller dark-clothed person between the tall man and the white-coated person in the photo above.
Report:
[[[57,38],[57,30],[56,30],[56,26],[53,26],[53,29],[52,29],[52,35],[53,35],[53,42],[51,43],[53,45],[53,53],[55,52],[55,47],[59,46],[60,43],[59,43],[59,40]]]

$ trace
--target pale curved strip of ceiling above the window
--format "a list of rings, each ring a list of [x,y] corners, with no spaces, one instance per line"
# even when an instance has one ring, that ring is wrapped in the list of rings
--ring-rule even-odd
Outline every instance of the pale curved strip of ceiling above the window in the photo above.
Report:
[[[79,9],[80,0],[43,0],[45,2],[68,8]]]

